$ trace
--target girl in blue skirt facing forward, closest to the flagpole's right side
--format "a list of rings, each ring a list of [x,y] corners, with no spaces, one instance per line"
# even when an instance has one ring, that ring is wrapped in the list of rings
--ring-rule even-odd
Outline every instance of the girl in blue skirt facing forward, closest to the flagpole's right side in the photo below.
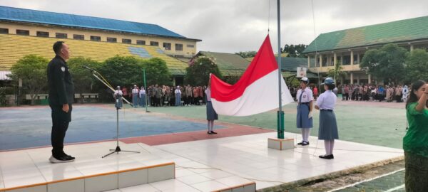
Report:
[[[303,77],[300,80],[300,90],[297,91],[297,128],[302,130],[302,142],[297,143],[305,146],[309,144],[310,129],[312,126],[312,103],[314,97],[312,90],[307,87],[309,80]]]

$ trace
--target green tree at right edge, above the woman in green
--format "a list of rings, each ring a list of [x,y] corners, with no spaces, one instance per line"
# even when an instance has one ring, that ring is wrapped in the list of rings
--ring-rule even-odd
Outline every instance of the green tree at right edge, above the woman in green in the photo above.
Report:
[[[428,53],[424,49],[415,49],[406,58],[406,82],[428,80]]]

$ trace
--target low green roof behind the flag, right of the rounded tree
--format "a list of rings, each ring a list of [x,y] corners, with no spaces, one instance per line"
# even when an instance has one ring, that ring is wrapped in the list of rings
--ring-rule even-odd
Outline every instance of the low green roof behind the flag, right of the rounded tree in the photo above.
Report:
[[[250,65],[250,61],[233,53],[216,53],[210,51],[199,51],[198,55],[205,55],[215,59],[215,64],[223,76],[242,75]],[[198,56],[196,55],[196,56]]]

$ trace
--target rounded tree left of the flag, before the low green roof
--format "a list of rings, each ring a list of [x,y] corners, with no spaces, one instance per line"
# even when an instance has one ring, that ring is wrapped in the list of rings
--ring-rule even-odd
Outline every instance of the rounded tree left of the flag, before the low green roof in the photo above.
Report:
[[[218,78],[223,78],[213,58],[200,56],[186,68],[184,80],[186,84],[190,85],[208,85],[210,73],[213,73]]]

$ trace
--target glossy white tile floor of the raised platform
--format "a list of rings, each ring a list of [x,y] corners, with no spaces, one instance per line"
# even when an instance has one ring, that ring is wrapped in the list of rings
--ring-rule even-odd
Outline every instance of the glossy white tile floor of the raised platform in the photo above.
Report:
[[[101,156],[114,148],[116,142],[71,145],[65,151],[76,156],[76,161],[68,164],[50,164],[50,148],[1,152],[0,187],[174,161],[175,179],[113,191],[213,191],[251,181],[260,189],[402,156],[399,149],[336,141],[335,159],[325,160],[317,157],[324,153],[324,144],[322,141],[317,144],[316,137],[310,138],[310,146],[287,151],[268,149],[269,137],[275,138],[276,133],[160,146],[121,144],[123,150],[141,151],[141,154],[124,152],[105,159]],[[294,138],[295,134],[286,133],[286,137]]]

